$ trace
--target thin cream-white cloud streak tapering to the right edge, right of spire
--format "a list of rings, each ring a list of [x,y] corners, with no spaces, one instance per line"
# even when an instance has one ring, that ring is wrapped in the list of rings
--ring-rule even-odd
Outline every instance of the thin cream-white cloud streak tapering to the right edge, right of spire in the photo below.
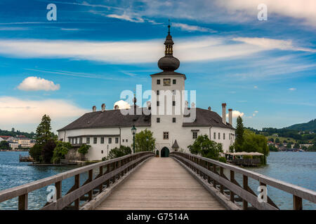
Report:
[[[232,38],[233,41],[240,41],[243,43],[249,43],[251,45],[256,45],[265,50],[279,49],[279,50],[295,50],[295,51],[307,51],[316,52],[316,49],[312,48],[299,48],[293,45],[291,40],[277,40],[271,38],[258,38],[258,37],[237,37]]]

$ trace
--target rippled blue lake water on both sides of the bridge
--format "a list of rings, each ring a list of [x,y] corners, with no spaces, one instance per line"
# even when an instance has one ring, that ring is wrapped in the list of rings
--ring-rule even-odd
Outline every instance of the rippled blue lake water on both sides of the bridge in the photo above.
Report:
[[[13,188],[31,181],[44,179],[77,166],[62,167],[33,167],[27,166],[26,162],[19,162],[19,155],[27,155],[27,152],[0,152],[0,190]],[[265,174],[297,186],[316,190],[316,152],[310,153],[270,153],[268,165],[258,168],[249,168],[254,172]],[[97,172],[94,172],[97,174]],[[242,176],[236,174],[236,179],[242,183]],[[81,175],[80,182],[84,183],[87,176]],[[258,183],[251,182],[249,185],[256,193]],[[74,178],[62,181],[62,195],[67,193],[74,183]],[[29,193],[29,209],[40,209],[46,203],[46,188],[41,188]],[[292,209],[292,195],[284,193],[268,186],[269,197],[280,209]],[[18,209],[18,199],[0,203],[0,209]],[[303,200],[303,209],[316,209],[315,204]]]

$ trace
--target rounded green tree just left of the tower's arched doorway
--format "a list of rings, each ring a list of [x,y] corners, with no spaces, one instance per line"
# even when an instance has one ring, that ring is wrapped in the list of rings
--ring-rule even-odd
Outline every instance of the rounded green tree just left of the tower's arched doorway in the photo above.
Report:
[[[154,151],[156,139],[153,137],[153,133],[150,130],[143,130],[135,135],[135,151]]]

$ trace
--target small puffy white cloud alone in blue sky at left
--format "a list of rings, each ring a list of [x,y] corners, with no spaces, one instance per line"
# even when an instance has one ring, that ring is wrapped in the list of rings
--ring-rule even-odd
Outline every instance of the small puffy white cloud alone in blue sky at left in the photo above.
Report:
[[[18,85],[18,89],[25,91],[55,91],[60,89],[60,85],[53,83],[53,81],[51,80],[46,80],[44,78],[39,78],[35,76],[29,76],[25,78],[25,80],[23,80],[22,83],[20,83],[20,85]]]

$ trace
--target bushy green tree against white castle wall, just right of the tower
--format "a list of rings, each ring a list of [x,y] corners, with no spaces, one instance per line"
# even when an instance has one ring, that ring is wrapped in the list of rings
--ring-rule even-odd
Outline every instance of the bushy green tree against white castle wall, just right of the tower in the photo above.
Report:
[[[223,152],[222,144],[218,144],[215,141],[211,141],[207,134],[200,135],[195,139],[195,142],[187,146],[190,152],[195,155],[201,155],[205,158],[218,160],[219,153]]]

